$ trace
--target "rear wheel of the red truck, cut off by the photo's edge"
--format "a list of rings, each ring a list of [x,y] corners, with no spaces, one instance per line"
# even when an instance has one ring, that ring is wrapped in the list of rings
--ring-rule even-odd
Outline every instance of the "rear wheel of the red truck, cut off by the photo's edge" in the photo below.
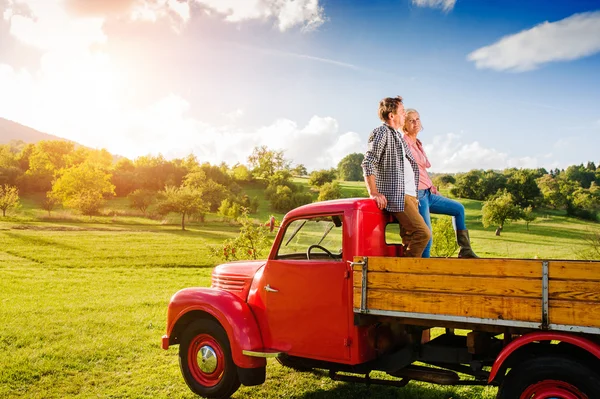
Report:
[[[568,357],[543,356],[513,367],[497,396],[497,399],[546,398],[600,398],[600,376]]]

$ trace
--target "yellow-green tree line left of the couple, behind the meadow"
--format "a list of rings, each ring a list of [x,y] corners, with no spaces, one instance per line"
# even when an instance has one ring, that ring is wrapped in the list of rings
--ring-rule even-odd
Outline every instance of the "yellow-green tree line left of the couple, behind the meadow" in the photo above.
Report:
[[[346,165],[357,155],[358,163]],[[362,154],[346,158],[339,164],[340,173],[335,169],[311,173],[311,185],[319,190],[320,200],[341,196],[335,178],[362,179]],[[0,145],[0,209],[5,215],[17,205],[19,194],[41,194],[40,207],[49,214],[62,204],[91,216],[108,198],[128,197],[131,206],[144,215],[152,206],[158,215],[181,214],[185,228],[185,219],[191,215],[202,220],[206,212],[231,218],[243,209],[256,212],[258,198],[243,194],[242,187],[248,184],[264,186],[265,198],[278,212],[312,202],[311,192],[292,182],[294,175],[307,174],[304,165],[292,168],[283,151],[266,146],[254,148],[247,164],[230,167],[201,163],[193,155],[172,160],[147,155],[132,161],[68,141],[12,141]]]

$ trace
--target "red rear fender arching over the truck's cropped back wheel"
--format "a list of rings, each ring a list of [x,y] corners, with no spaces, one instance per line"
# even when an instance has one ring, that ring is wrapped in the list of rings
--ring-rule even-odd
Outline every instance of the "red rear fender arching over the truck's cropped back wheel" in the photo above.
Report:
[[[515,339],[502,349],[492,366],[488,383],[494,381],[496,377],[502,377],[503,374],[498,375],[498,372],[503,369],[511,355],[536,341],[560,341],[576,346],[600,360],[600,345],[585,337],[561,332],[534,332]]]

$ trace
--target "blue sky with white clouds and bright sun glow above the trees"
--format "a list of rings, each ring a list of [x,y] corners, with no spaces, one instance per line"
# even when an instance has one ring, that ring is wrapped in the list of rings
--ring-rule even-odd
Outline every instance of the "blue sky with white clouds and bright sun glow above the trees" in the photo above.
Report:
[[[130,158],[309,170],[421,113],[433,172],[600,163],[600,0],[0,0],[0,117]]]

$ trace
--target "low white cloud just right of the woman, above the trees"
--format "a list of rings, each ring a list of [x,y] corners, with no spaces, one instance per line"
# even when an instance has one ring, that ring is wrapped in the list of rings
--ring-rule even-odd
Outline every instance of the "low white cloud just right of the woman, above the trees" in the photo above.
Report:
[[[515,158],[479,142],[463,142],[458,134],[435,136],[425,145],[431,162],[431,172],[466,172],[471,169],[537,168],[539,161],[533,157]]]

